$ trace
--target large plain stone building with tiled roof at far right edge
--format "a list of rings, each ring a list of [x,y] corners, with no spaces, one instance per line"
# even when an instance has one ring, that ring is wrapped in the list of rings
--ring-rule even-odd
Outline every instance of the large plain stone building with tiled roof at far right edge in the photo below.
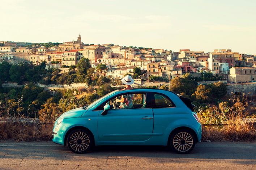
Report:
[[[248,82],[255,81],[256,68],[255,67],[232,67],[230,68],[230,75],[228,80],[231,82]]]

